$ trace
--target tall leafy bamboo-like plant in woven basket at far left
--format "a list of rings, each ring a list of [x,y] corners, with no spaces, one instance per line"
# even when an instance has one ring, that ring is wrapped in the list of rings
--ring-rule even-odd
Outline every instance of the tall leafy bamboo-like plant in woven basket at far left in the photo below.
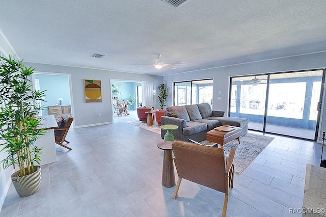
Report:
[[[41,168],[36,163],[41,148],[34,142],[45,130],[39,128],[42,107],[36,101],[44,101],[45,91],[33,90],[29,77],[34,69],[11,57],[0,61],[0,151],[8,153],[1,163],[4,169],[11,165],[19,169],[11,179],[19,196],[26,197],[40,188]]]

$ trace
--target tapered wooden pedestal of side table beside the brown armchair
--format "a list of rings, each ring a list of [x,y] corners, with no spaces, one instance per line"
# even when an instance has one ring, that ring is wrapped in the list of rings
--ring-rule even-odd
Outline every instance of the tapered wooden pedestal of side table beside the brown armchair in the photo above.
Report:
[[[173,187],[175,185],[172,150],[164,150],[162,185],[165,187]]]

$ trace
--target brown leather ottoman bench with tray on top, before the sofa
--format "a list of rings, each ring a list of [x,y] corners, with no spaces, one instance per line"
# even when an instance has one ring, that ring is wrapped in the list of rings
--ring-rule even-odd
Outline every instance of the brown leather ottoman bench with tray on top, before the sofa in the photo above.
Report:
[[[216,130],[216,129],[220,129],[220,130]],[[226,131],[226,130],[230,130],[230,131]],[[212,142],[218,143],[221,145],[221,148],[223,148],[223,145],[235,139],[238,139],[238,142],[240,144],[241,133],[242,133],[242,129],[240,127],[229,126],[229,125],[220,126],[220,127],[215,127],[215,129],[208,131],[206,133],[206,140],[209,142],[209,144],[211,144]]]

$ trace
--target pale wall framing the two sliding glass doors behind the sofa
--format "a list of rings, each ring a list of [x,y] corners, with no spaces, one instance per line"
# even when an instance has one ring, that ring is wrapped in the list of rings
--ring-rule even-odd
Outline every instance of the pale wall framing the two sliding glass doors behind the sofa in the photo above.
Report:
[[[266,60],[260,62],[246,63],[231,65],[213,69],[199,70],[193,72],[187,72],[176,75],[164,76],[164,83],[167,85],[169,92],[169,98],[167,105],[173,104],[173,82],[180,82],[186,80],[214,78],[213,86],[213,110],[225,111],[228,114],[228,100],[229,100],[229,86],[230,76],[237,75],[250,75],[250,74],[263,74],[273,72],[286,72],[297,70],[310,70],[326,68],[326,51],[319,53],[311,53],[308,55],[279,58],[273,60]],[[218,92],[221,91],[221,95]],[[217,97],[222,97],[222,100],[218,100]],[[324,102],[325,96],[323,96]],[[322,137],[320,132],[326,131],[326,103],[323,103],[322,114],[320,117],[320,127],[318,142]],[[325,113],[325,114],[324,114]]]

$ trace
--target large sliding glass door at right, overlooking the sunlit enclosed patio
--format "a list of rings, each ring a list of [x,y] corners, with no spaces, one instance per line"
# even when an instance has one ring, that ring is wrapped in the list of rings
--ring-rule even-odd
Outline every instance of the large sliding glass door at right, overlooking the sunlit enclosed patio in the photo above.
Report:
[[[250,129],[316,139],[322,70],[231,78],[230,116]]]

